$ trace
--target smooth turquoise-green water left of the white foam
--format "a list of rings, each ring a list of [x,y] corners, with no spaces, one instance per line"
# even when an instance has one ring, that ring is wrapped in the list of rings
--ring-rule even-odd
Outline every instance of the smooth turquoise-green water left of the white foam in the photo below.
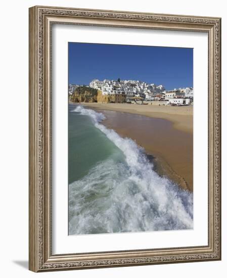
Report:
[[[98,162],[108,158],[122,161],[123,153],[106,135],[94,126],[87,115],[72,113],[69,104],[68,181],[69,184],[85,176]]]

